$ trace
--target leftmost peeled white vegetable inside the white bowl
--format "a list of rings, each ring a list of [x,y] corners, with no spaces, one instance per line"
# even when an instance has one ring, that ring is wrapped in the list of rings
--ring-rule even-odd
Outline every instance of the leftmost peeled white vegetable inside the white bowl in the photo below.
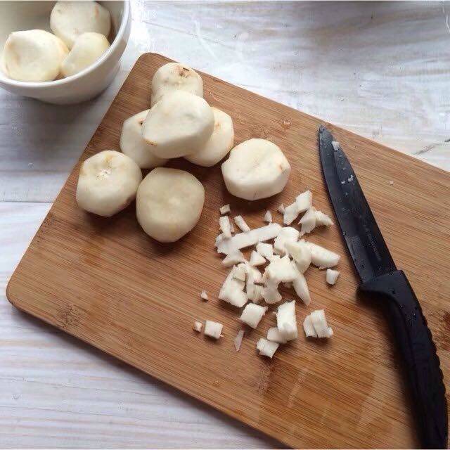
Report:
[[[44,30],[13,32],[6,39],[2,70],[20,82],[50,82],[68,54],[64,42]]]

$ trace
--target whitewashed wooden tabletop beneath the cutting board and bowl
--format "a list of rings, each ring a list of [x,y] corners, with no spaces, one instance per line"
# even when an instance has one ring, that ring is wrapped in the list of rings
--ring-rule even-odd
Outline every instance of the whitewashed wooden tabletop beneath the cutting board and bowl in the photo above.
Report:
[[[96,100],[0,91],[0,447],[279,446],[21,314],[6,283],[143,52],[450,169],[450,4],[138,0],[132,15],[120,74]]]

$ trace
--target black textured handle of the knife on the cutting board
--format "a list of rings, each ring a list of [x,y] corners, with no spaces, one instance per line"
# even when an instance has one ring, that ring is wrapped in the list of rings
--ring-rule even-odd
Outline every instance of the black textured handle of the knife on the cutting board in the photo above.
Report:
[[[447,403],[439,357],[408,279],[403,271],[394,271],[363,283],[359,291],[386,299],[384,310],[404,359],[421,445],[446,449]]]

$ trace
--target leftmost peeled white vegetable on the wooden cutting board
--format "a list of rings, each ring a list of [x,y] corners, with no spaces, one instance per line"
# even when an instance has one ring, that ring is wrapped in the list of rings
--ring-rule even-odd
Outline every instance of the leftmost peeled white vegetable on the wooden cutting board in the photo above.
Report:
[[[83,162],[77,203],[83,210],[110,217],[134,200],[141,181],[136,162],[123,153],[104,150]]]

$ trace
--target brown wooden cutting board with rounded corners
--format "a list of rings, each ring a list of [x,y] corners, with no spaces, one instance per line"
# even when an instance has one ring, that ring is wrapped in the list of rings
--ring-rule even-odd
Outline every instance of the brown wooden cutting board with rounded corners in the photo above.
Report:
[[[150,79],[167,61],[149,53],[139,58],[80,162],[100,150],[119,150],[123,120],[149,107]],[[256,342],[275,324],[274,315],[266,314],[235,351],[239,311],[217,300],[226,276],[214,252],[219,207],[231,203],[232,213],[254,228],[263,225],[266,210],[281,222],[276,207],[309,188],[314,205],[332,214],[317,149],[323,122],[210,75],[203,74],[203,81],[206,100],[233,117],[236,143],[259,137],[283,149],[293,169],[283,193],[250,204],[227,193],[220,165],[206,169],[174,160],[170,167],[202,181],[205,208],[191,233],[162,245],[140,229],[134,204],[111,219],[79,210],[79,162],[15,270],[8,299],[288,446],[418,446],[390,334],[378,310],[356,296],[358,281],[338,226],[310,237],[342,255],[337,285],[328,287],[325,273],[310,268],[311,305],[297,306],[299,325],[307,312],[324,308],[333,338],[307,340],[300,333],[273,360],[262,358]],[[421,300],[448,382],[450,174],[330,129],[352,162],[397,266]],[[209,302],[200,300],[203,289]],[[290,290],[283,296],[294,298]],[[224,338],[214,342],[193,332],[195,319],[224,323]]]

